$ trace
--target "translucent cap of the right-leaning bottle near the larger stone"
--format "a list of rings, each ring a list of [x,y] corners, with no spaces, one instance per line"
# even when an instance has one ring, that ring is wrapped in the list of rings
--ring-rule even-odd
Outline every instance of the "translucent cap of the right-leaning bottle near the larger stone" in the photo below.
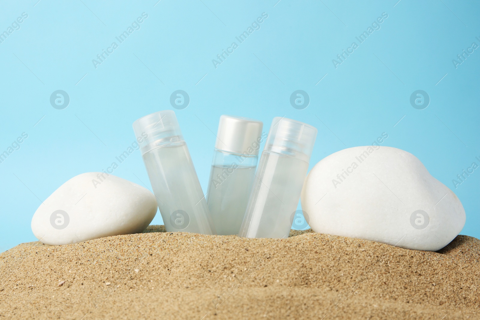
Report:
[[[310,161],[316,137],[315,127],[297,120],[276,117],[272,121],[264,150],[291,155],[300,153],[306,156],[306,161]]]

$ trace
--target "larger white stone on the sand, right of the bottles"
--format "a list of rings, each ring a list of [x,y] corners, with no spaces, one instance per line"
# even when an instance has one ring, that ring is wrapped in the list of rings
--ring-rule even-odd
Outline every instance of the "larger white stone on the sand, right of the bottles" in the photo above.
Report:
[[[308,174],[301,205],[315,232],[406,249],[439,250],[465,225],[455,193],[413,154],[386,146],[325,157]]]

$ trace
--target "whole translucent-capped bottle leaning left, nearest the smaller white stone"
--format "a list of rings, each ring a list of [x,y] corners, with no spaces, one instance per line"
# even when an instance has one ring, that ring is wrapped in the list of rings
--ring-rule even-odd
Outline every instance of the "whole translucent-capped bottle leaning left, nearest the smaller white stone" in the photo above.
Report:
[[[140,118],[133,122],[133,131],[167,231],[215,234],[175,112]]]

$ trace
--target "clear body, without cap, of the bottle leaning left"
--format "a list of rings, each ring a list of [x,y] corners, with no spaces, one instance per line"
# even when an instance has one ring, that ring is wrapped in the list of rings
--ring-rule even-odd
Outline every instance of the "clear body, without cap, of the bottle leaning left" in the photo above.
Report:
[[[215,234],[186,142],[158,146],[143,159],[167,231]]]

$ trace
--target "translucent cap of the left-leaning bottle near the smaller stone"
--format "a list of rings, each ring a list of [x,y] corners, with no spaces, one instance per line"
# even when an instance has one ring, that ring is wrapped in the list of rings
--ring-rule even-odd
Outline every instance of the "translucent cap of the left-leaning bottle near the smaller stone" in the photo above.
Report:
[[[180,126],[172,110],[158,111],[133,122],[142,154],[170,142],[182,141]]]

